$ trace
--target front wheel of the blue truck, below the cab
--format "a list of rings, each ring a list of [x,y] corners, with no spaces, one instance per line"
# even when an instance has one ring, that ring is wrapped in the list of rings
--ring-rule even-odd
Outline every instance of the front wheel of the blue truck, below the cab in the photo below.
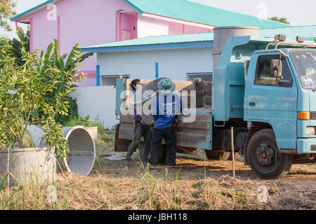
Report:
[[[256,176],[265,180],[286,176],[293,162],[293,155],[278,153],[275,134],[271,129],[261,130],[251,137],[247,158]]]

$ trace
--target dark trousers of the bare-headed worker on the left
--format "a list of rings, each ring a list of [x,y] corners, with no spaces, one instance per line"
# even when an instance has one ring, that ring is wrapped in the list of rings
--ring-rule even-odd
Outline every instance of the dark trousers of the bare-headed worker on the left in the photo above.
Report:
[[[152,139],[152,130],[150,129],[149,125],[143,125],[139,121],[136,122],[136,127],[134,128],[134,138],[129,146],[129,149],[126,153],[126,160],[131,160],[131,156],[133,152],[136,151],[138,144],[140,143],[140,139],[144,137],[144,148],[143,152],[140,152],[140,157],[142,162],[148,162],[148,153],[150,151],[150,141]]]

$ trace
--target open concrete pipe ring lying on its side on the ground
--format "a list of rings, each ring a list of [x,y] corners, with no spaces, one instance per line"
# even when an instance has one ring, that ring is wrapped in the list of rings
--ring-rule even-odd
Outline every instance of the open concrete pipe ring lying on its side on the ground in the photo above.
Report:
[[[58,159],[58,171],[88,176],[96,160],[96,145],[88,130],[82,126],[64,127],[62,135],[68,140],[70,154]]]

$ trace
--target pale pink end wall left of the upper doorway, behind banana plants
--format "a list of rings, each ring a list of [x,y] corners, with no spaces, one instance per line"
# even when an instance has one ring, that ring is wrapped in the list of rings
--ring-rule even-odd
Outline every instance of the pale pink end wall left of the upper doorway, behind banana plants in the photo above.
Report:
[[[47,9],[24,19],[24,21],[33,19],[31,50],[35,48],[46,50],[48,44],[58,36],[60,36],[60,54],[69,53],[76,43],[83,47],[117,41],[117,10],[137,13],[137,10],[124,0],[64,0],[58,1],[55,5],[60,22],[47,20],[49,12]],[[132,35],[137,37],[135,31]],[[79,86],[96,85],[96,63],[96,54],[84,61],[80,69],[89,74]]]

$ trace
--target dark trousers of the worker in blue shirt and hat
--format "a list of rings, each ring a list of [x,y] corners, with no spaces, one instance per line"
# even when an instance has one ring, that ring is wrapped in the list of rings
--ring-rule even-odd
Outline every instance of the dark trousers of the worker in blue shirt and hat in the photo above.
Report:
[[[150,165],[157,166],[158,154],[162,146],[162,139],[166,142],[166,158],[169,166],[176,166],[176,132],[174,127],[156,129],[152,133]]]

